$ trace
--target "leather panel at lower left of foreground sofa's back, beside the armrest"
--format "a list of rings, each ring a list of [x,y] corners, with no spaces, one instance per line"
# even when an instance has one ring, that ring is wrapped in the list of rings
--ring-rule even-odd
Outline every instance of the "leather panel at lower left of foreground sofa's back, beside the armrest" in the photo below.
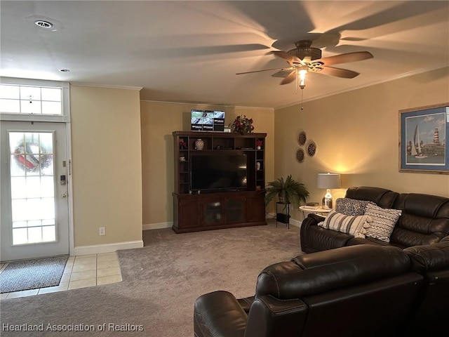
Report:
[[[256,297],[248,315],[245,337],[301,336],[307,310],[300,299]]]

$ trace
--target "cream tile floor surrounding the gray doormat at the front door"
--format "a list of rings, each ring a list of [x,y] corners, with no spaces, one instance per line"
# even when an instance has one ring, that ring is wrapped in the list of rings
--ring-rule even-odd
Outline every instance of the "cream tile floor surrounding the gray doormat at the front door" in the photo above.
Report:
[[[0,272],[8,263],[0,265]],[[101,253],[91,255],[69,256],[65,265],[59,286],[49,286],[41,289],[14,291],[13,293],[1,293],[0,299],[34,296],[41,293],[54,293],[70,289],[84,288],[86,286],[100,286],[121,282],[121,271],[117,254]]]

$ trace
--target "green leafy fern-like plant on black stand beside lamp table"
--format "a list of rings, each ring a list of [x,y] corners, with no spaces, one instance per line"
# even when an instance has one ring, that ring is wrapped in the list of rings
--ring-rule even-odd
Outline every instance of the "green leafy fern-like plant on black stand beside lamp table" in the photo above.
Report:
[[[295,181],[291,175],[286,180],[282,177],[268,183],[265,190],[265,206],[269,204],[274,197],[279,196],[279,202],[283,204],[292,204],[295,207],[300,206],[300,202],[306,202],[309,191],[304,184]]]

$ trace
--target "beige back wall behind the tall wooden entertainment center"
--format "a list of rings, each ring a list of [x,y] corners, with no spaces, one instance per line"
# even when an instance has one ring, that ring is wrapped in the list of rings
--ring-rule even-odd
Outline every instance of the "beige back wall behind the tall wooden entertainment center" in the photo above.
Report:
[[[190,130],[190,110],[225,110],[225,124],[236,115],[253,118],[255,132],[267,133],[267,179],[274,176],[274,112],[272,109],[142,101],[142,194],[143,225],[164,227],[173,221],[173,131]],[[145,228],[144,227],[144,228]]]

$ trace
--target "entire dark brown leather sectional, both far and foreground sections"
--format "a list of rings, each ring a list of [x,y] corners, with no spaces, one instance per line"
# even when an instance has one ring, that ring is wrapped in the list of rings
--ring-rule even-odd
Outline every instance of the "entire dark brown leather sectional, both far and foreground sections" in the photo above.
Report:
[[[390,242],[301,227],[307,254],[262,270],[255,296],[200,296],[196,337],[446,336],[449,199],[351,187],[346,197],[401,209]]]

